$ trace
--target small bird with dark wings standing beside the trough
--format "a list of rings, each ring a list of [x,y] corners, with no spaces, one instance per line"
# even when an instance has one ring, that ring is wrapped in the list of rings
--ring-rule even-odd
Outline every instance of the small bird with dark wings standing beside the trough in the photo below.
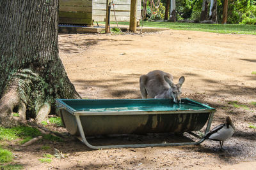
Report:
[[[226,139],[230,138],[236,128],[231,121],[230,117],[226,117],[226,123],[220,124],[214,127],[211,131],[204,134],[202,138],[204,139],[211,139],[213,141],[220,141],[220,150],[223,150],[222,146]]]

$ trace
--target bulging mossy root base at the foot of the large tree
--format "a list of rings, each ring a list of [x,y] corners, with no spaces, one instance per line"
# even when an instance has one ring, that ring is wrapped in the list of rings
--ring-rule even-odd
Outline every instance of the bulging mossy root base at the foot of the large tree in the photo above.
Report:
[[[13,127],[24,124],[26,118],[41,123],[51,112],[54,102],[49,85],[32,71],[26,69],[13,74],[0,101],[0,124]]]

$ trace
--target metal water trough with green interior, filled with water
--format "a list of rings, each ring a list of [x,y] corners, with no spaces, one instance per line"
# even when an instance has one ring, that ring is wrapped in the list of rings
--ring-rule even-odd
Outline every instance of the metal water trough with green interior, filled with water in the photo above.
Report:
[[[72,135],[92,148],[138,148],[148,146],[199,145],[204,141],[192,131],[211,126],[214,108],[191,99],[173,103],[170,99],[57,99],[62,122]],[[88,136],[189,132],[199,141],[93,146]]]

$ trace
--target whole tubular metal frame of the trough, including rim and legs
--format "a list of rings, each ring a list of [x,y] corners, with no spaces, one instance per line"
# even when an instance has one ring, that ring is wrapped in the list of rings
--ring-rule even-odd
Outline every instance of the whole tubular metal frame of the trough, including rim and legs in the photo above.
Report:
[[[186,98],[189,101],[193,101],[191,99]],[[198,136],[197,134],[193,133],[193,132],[188,132],[189,134],[195,136],[196,138],[198,138],[198,141],[193,141],[193,142],[182,142],[182,143],[146,143],[146,144],[127,144],[127,145],[101,145],[101,146],[94,146],[91,145],[90,143],[88,143],[86,136],[84,134],[84,130],[83,130],[83,125],[81,124],[81,120],[80,120],[80,116],[81,115],[86,115],[86,113],[84,113],[83,111],[75,111],[72,108],[68,107],[68,106],[63,106],[63,102],[60,99],[57,99],[57,105],[58,108],[60,109],[65,109],[68,111],[68,113],[74,115],[76,117],[76,122],[77,122],[77,127],[79,130],[79,133],[81,135],[81,138],[77,137],[80,141],[82,141],[86,146],[88,146],[89,148],[92,148],[93,150],[99,150],[99,149],[108,149],[108,148],[144,148],[144,147],[153,147],[153,146],[184,146],[184,145],[200,145],[200,143],[202,143],[204,141],[204,138],[200,138],[200,136]],[[193,103],[198,103],[196,101],[193,101]],[[211,108],[209,107],[207,104],[202,104],[202,103],[198,103],[201,105],[206,106],[207,108]],[[214,113],[216,112],[216,110],[214,108],[211,108],[212,110],[207,110],[207,112],[209,112],[209,118],[207,120],[207,127],[205,128],[205,133],[207,133],[210,130],[211,127],[211,123],[212,123],[212,118],[214,116]],[[205,110],[196,110],[197,113],[205,113]],[[206,112],[206,113],[207,113]],[[100,112],[90,112],[87,115],[91,115],[94,114],[95,116],[97,115],[104,115],[104,113],[100,113]],[[184,111],[172,111],[171,114],[180,114],[180,113],[193,113],[193,111],[190,110],[184,110]],[[145,114],[148,115],[148,113],[141,113],[141,114]],[[151,113],[154,114],[154,113]],[[168,113],[170,114],[170,113]],[[131,111],[124,111],[124,112],[116,112],[116,113],[109,113],[108,115],[136,115],[136,113],[132,114]]]

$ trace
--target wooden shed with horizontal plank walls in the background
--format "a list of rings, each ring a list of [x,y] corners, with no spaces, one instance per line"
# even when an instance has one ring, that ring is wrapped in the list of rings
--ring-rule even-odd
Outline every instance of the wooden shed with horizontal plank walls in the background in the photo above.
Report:
[[[113,0],[109,0],[112,2]],[[137,18],[141,16],[141,0],[137,0]],[[114,0],[116,20],[129,22],[131,0]],[[59,23],[93,25],[106,18],[106,0],[60,0]],[[113,5],[111,5],[110,21],[115,22]]]

